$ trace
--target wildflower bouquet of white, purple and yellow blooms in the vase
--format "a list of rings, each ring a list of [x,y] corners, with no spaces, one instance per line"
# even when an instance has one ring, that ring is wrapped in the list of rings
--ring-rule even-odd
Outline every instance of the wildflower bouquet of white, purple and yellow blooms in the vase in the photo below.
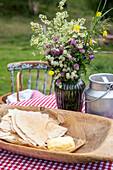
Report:
[[[95,35],[107,35],[106,26],[103,26],[101,18],[110,10],[102,14],[104,6],[99,12],[98,6],[95,17],[92,18],[90,28],[84,26],[85,19],[67,21],[67,11],[62,11],[66,0],[59,2],[61,12],[49,21],[45,15],[39,15],[42,23],[47,25],[46,33],[43,26],[31,22],[34,35],[31,45],[36,45],[41,54],[48,61],[49,74],[58,83],[70,83],[75,85],[78,79],[86,73],[86,66],[95,58],[95,44],[98,42]],[[99,26],[98,26],[99,25]],[[103,39],[104,41],[104,39]]]

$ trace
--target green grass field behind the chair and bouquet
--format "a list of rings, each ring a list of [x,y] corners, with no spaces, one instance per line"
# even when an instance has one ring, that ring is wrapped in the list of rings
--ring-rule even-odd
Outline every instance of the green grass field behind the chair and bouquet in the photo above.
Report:
[[[83,17],[90,19],[90,15],[93,16],[93,11],[88,10],[87,4],[84,0],[73,1],[68,0],[67,9],[70,14],[70,18]],[[55,3],[52,5],[54,6]],[[46,6],[45,4],[40,6],[40,11],[49,15],[51,17],[55,15],[57,8],[53,10],[53,6]],[[70,10],[71,9],[71,10]],[[49,18],[51,18],[49,17]],[[12,17],[0,17],[0,95],[10,92],[10,82],[11,74],[7,71],[7,64],[11,62],[18,61],[30,61],[30,60],[41,60],[42,56],[39,51],[30,46],[30,37],[32,31],[30,29],[30,22],[38,22],[38,17],[22,17],[22,16],[12,16]],[[113,45],[102,47],[102,50],[113,51]],[[32,55],[35,52],[36,55]],[[94,67],[88,67],[87,74],[82,77],[85,83],[88,83],[88,77],[91,74],[98,72],[113,73],[113,54],[98,54],[92,62],[98,70]],[[44,73],[42,73],[44,74]],[[42,77],[42,76],[41,76]],[[27,73],[25,73],[25,84],[27,84]],[[32,88],[35,87],[36,73],[33,72]],[[42,80],[41,80],[42,81]],[[49,82],[48,82],[49,83]],[[41,91],[42,91],[42,86]],[[24,86],[24,88],[27,88]],[[16,90],[16,89],[15,89]]]

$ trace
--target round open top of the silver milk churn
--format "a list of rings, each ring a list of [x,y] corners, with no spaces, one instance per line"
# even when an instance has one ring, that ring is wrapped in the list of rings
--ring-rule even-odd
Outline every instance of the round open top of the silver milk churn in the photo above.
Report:
[[[98,73],[89,76],[89,81],[98,84],[113,84],[113,74],[110,73]]]

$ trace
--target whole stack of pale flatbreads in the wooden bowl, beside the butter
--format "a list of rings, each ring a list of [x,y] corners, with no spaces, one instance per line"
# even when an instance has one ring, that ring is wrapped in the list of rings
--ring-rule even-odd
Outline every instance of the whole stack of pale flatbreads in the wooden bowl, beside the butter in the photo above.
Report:
[[[0,123],[0,138],[8,142],[45,148],[52,138],[64,136],[66,127],[40,112],[9,109]]]

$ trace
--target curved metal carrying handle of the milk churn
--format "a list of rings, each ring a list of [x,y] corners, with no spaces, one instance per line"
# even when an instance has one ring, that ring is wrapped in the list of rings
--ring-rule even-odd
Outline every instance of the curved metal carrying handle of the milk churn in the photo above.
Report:
[[[86,88],[84,89],[84,91],[83,91],[83,93],[82,93],[82,100],[83,100],[84,102],[94,102],[94,101],[96,101],[96,100],[104,97],[110,90],[113,89],[113,84],[110,84],[110,85],[108,86],[108,90],[107,90],[104,94],[102,94],[101,96],[96,97],[95,99],[84,100],[84,93],[85,93],[86,89],[88,89],[88,86],[89,86],[89,84],[86,86]]]

